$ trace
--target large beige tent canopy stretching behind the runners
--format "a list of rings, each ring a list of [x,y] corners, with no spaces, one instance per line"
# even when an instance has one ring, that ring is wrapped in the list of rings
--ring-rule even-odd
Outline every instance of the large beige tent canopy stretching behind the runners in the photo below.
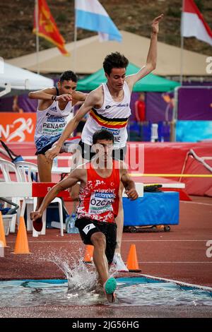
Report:
[[[66,49],[71,53],[70,57],[64,57],[57,47],[45,49],[39,52],[40,73],[62,73],[73,70],[76,73],[95,73],[102,67],[102,62],[107,54],[120,52],[136,66],[146,64],[146,57],[150,39],[135,35],[131,32],[120,31],[122,42],[99,42],[98,35],[66,44]],[[76,52],[74,51],[76,47]],[[154,73],[160,76],[180,75],[180,47],[158,42],[157,68]],[[76,58],[75,58],[76,54]],[[206,58],[204,54],[183,50],[183,74],[184,76],[211,76],[206,73]],[[37,71],[36,53],[24,55],[7,60],[9,64]]]

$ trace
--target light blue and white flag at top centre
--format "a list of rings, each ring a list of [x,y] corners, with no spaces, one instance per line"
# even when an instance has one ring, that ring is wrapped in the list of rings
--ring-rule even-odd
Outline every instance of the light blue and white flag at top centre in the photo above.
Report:
[[[75,0],[76,27],[97,31],[100,41],[117,40],[122,35],[98,0]]]

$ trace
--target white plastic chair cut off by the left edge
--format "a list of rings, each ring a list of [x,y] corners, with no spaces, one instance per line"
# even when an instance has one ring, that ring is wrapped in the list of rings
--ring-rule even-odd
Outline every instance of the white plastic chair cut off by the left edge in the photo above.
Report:
[[[20,173],[13,162],[0,158],[0,170],[2,172],[4,182],[21,182]],[[11,174],[15,174],[16,178],[12,179]],[[11,201],[19,206],[17,213],[11,218],[10,232],[14,233],[16,231],[16,220],[18,221],[20,219],[20,200],[23,198],[13,198],[11,194],[8,195],[8,198],[11,198]]]

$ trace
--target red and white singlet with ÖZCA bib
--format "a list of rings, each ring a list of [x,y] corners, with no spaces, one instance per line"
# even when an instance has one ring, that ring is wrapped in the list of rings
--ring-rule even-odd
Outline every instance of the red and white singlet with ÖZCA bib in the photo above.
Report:
[[[119,161],[113,160],[110,177],[100,177],[91,162],[86,164],[87,183],[79,192],[77,218],[114,223],[119,212]]]

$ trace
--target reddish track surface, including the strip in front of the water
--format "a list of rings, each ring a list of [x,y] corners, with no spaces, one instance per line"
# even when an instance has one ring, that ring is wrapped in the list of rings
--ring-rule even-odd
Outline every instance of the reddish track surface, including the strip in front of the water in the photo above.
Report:
[[[70,204],[70,203],[68,203]],[[124,233],[122,257],[127,259],[129,247],[136,244],[141,273],[212,287],[212,198],[192,197],[192,202],[180,202],[179,225],[170,232]],[[210,247],[207,247],[211,240]],[[78,252],[83,249],[79,235],[59,235],[59,230],[47,230],[46,235],[32,237],[28,242],[32,254],[11,254],[16,234],[6,237],[8,248],[1,258],[0,279],[64,278],[64,273],[54,263],[41,258],[49,253]],[[208,250],[208,251],[207,251]],[[207,254],[209,254],[207,256]],[[123,274],[122,274],[123,275]],[[133,276],[124,273],[124,276]],[[211,307],[31,307],[1,308],[0,317],[209,317]]]

